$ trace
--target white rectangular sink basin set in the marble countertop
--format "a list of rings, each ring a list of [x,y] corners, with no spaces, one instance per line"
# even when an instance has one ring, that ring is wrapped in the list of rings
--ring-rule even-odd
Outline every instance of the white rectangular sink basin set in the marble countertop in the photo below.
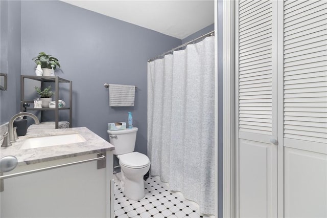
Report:
[[[25,140],[25,142],[21,145],[20,149],[49,147],[85,141],[86,140],[83,138],[83,136],[78,133],[55,136],[31,137]]]

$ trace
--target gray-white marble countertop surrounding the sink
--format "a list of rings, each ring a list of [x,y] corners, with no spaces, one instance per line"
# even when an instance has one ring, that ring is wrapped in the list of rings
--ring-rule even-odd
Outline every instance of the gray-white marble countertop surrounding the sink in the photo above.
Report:
[[[54,136],[78,133],[84,137],[85,142],[55,145],[49,147],[20,149],[27,138],[40,136]],[[18,165],[34,164],[45,161],[58,160],[88,154],[96,154],[113,150],[114,146],[93,133],[86,127],[55,129],[53,122],[31,125],[26,136],[20,136],[12,146],[2,147],[0,157],[12,155],[18,159]]]

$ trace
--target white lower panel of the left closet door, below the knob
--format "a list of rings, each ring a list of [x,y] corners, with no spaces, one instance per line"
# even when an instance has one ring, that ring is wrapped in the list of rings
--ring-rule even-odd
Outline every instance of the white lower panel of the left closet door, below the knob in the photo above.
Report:
[[[270,144],[240,139],[240,217],[273,217],[271,154]]]

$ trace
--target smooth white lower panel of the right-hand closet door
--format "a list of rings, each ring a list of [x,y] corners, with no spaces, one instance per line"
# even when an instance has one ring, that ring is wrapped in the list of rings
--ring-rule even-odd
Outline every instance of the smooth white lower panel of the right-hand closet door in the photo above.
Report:
[[[284,155],[285,217],[327,217],[327,155],[288,147]]]

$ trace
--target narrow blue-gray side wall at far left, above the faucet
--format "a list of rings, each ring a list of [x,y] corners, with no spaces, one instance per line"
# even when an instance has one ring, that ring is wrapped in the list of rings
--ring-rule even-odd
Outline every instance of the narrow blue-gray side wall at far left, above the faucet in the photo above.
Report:
[[[20,2],[0,1],[1,73],[8,74],[8,90],[0,91],[0,124],[19,111]]]

